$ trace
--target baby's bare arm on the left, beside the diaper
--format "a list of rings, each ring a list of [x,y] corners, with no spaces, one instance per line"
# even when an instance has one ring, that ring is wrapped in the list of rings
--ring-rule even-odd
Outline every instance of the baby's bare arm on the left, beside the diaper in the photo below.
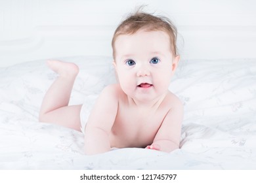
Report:
[[[117,114],[117,94],[114,85],[104,88],[93,107],[85,128],[85,154],[108,152],[110,131]]]

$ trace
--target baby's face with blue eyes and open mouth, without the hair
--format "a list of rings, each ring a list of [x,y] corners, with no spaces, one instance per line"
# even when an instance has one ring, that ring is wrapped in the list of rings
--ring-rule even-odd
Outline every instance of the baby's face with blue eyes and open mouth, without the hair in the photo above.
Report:
[[[119,35],[115,48],[114,66],[123,92],[137,101],[152,101],[167,93],[179,61],[167,33],[141,30]]]

